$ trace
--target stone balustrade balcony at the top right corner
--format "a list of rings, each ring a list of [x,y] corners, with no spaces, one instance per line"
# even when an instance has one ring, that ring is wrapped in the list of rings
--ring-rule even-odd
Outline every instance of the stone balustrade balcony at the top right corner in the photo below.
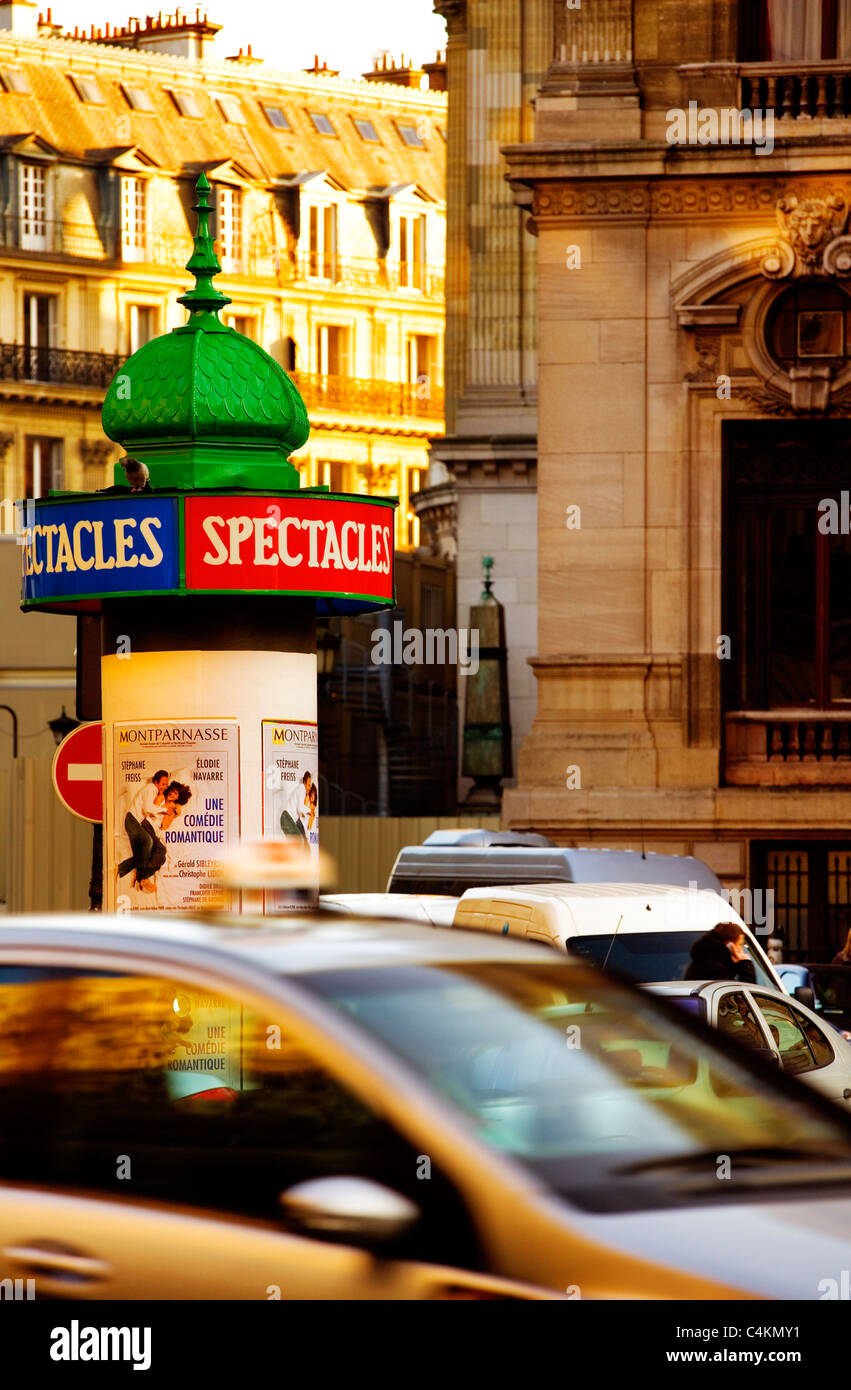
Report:
[[[851,117],[851,63],[747,63],[738,68],[740,110],[773,111],[777,120]]]

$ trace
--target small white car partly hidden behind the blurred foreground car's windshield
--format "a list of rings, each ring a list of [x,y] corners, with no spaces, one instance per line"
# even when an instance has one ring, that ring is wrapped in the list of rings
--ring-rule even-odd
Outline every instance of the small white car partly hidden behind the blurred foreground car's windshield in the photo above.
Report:
[[[736,980],[672,980],[647,988],[848,1108],[851,1045],[813,1009],[781,990]]]

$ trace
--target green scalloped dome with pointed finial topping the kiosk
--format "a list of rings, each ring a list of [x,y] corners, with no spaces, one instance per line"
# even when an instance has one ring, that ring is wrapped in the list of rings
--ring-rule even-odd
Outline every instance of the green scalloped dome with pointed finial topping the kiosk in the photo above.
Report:
[[[259,343],[221,322],[231,300],[209,232],[210,183],[197,183],[197,232],[186,270],[189,320],[145,343],[114,377],[103,430],[150,468],[154,488],[299,486],[288,456],[310,434],[296,386]],[[115,481],[122,482],[121,468]]]

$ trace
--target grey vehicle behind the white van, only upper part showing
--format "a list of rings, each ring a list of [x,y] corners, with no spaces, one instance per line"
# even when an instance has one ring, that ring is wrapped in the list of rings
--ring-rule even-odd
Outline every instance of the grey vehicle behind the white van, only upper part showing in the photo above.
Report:
[[[566,849],[545,835],[505,830],[435,830],[423,845],[405,845],[387,891],[460,897],[466,888],[521,883],[691,884],[729,901],[712,869],[691,855]]]

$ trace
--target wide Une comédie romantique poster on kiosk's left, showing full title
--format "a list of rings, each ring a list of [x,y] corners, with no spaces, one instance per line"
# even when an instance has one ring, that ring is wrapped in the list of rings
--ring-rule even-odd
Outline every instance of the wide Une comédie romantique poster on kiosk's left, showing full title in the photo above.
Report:
[[[114,726],[118,912],[231,908],[217,866],[239,838],[234,719]]]

